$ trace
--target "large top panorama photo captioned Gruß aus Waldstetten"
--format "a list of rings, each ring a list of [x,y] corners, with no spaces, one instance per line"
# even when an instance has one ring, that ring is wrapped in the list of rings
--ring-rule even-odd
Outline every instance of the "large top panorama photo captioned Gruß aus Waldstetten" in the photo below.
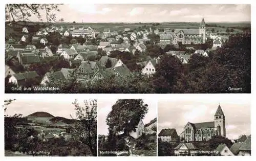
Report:
[[[251,5],[6,4],[5,93],[251,93]]]

